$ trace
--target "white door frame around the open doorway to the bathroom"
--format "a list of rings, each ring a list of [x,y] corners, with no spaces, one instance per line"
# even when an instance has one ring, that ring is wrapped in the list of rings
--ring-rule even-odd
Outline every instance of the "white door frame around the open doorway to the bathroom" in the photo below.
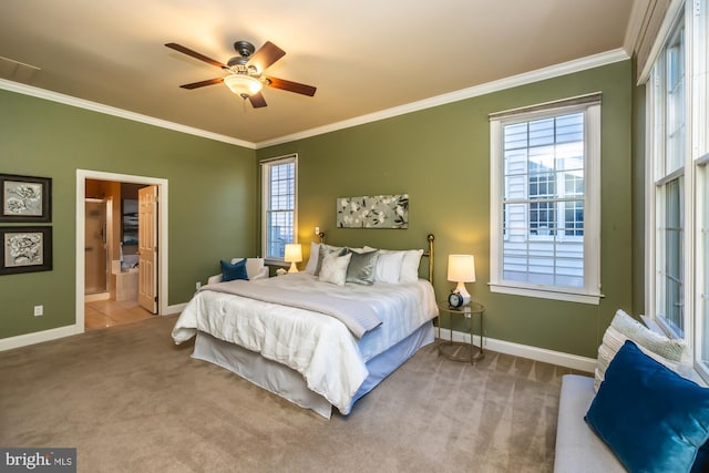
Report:
[[[158,286],[157,315],[167,315],[167,179],[158,177],[134,176],[130,174],[105,173],[102,171],[76,169],[76,321],[79,333],[84,331],[84,199],[86,179],[113,181],[120,183],[158,186]]]

